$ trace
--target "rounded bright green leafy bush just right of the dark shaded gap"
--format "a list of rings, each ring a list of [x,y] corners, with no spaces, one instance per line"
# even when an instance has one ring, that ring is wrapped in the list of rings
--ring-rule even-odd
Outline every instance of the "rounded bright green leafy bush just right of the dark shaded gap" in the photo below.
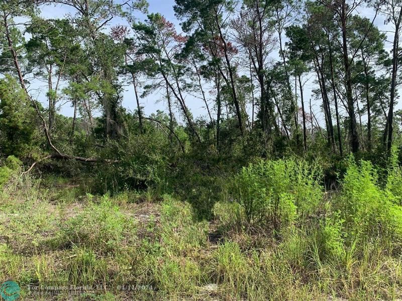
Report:
[[[303,160],[259,161],[234,179],[233,198],[249,224],[275,231],[317,210],[322,199],[319,169]]]

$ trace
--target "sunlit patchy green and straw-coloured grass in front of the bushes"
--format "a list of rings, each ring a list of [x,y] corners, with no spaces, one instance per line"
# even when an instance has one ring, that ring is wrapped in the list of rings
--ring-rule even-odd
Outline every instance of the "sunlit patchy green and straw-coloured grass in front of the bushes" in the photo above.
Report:
[[[289,193],[305,197],[302,182]],[[367,189],[382,195],[372,183]],[[298,214],[272,233],[250,225],[225,191],[206,221],[171,195],[99,196],[79,186],[67,192],[69,185],[16,176],[1,191],[0,281],[18,282],[23,298],[63,300],[71,292],[93,300],[402,298],[402,257],[397,243],[389,243],[393,230],[384,242],[374,224],[374,236],[359,233],[353,241],[336,207],[342,195],[314,188],[322,197],[316,212]],[[368,193],[348,189],[353,197]],[[364,229],[370,227],[356,210]],[[348,223],[356,229],[356,219]]]

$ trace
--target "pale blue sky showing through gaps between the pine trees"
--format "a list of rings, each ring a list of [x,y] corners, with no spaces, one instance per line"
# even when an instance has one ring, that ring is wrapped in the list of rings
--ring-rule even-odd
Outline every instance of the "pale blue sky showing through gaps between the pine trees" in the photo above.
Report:
[[[172,22],[175,26],[176,29],[180,32],[180,25],[179,21],[174,15],[173,11],[173,5],[174,5],[174,0],[148,0],[149,3],[149,8],[148,12],[149,13],[160,13],[167,20]],[[44,18],[62,18],[66,14],[75,14],[74,10],[72,8],[69,8],[67,6],[62,6],[62,5],[57,5],[57,6],[44,6],[41,9],[41,15]],[[358,12],[360,16],[364,16],[369,18],[370,20],[374,17],[374,11],[366,8],[361,8],[360,11]],[[138,12],[137,13],[137,18],[139,20],[144,20],[145,15],[142,13]],[[127,22],[115,18],[110,22],[110,26],[115,26],[115,25],[127,25]],[[384,18],[383,16],[378,15],[376,18],[376,21],[374,23],[378,28],[384,32],[387,32],[389,39],[391,40],[392,32],[389,32],[391,28],[389,28],[388,25],[384,25]],[[387,49],[390,49],[390,45],[386,45]],[[277,56],[277,50],[274,50],[275,54],[272,55],[272,58],[278,58]],[[305,77],[305,84],[304,84],[304,99],[305,102],[308,104],[310,101],[310,98],[312,98],[312,89],[316,89],[317,85],[314,83],[316,79],[316,76],[314,74],[309,74],[308,76]],[[41,91],[37,93],[37,97],[40,101],[44,103],[46,106],[46,83],[40,83],[38,81],[32,82],[31,87],[36,89],[37,91]],[[208,91],[208,87],[206,88]],[[208,92],[207,92],[208,96]],[[212,98],[212,97],[211,97]],[[166,104],[164,101],[164,95],[163,93],[152,93],[144,98],[141,98],[141,106],[144,107],[144,112],[146,116],[149,116],[152,113],[155,113],[157,110],[162,110],[166,112]],[[205,105],[203,101],[201,101],[198,98],[195,98],[191,95],[186,96],[186,104],[188,108],[190,109],[191,113],[193,114],[194,117],[207,117],[207,112],[205,109]],[[315,115],[318,117],[320,120],[320,123],[324,123],[324,116],[321,113],[320,105],[321,105],[321,100],[316,101],[314,98],[312,99],[312,104],[313,104],[313,112],[315,112]],[[125,86],[125,91],[123,94],[123,102],[122,102],[123,107],[127,108],[130,111],[134,111],[136,109],[136,101],[135,101],[135,96],[134,96],[134,89],[132,88],[131,85]],[[212,107],[213,103],[211,102],[210,107]],[[299,104],[300,106],[300,104]],[[362,106],[362,105],[361,105]],[[396,109],[400,109],[401,106],[397,105]],[[341,110],[340,113],[344,113],[345,111]],[[60,113],[65,115],[65,116],[72,116],[73,114],[73,109],[70,107],[69,104],[65,104],[60,108]],[[176,114],[177,115],[177,114]],[[179,116],[177,116],[179,117]],[[180,119],[179,119],[180,120]],[[365,118],[363,117],[363,120]]]

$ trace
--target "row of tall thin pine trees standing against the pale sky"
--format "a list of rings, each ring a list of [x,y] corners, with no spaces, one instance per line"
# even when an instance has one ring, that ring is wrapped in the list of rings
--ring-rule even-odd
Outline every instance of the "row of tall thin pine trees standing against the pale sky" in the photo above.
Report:
[[[71,13],[45,19],[45,6]],[[99,153],[71,148],[77,136],[95,146],[124,144],[148,124],[184,153],[185,139],[217,153],[237,140],[257,143],[264,154],[283,147],[307,153],[319,143],[340,156],[389,151],[402,117],[395,110],[401,6],[400,0],[175,0],[179,28],[147,14],[144,0],[2,2],[1,151],[18,155],[42,135],[39,147],[51,157],[95,162]],[[45,83],[47,104],[36,98],[35,81]],[[310,97],[306,83],[313,86]],[[122,105],[128,86],[133,114]],[[166,113],[145,116],[147,95],[163,98]],[[206,118],[194,118],[189,98]],[[58,112],[65,104],[73,112],[68,121]]]

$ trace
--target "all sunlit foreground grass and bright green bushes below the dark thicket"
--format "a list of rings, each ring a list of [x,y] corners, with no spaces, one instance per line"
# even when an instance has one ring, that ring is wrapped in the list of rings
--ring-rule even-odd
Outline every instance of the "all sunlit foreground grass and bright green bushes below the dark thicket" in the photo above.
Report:
[[[343,164],[326,191],[319,162],[254,161],[198,195],[218,199],[211,219],[183,193],[92,195],[7,166],[0,280],[36,299],[401,298],[400,167],[380,181],[369,161]]]

